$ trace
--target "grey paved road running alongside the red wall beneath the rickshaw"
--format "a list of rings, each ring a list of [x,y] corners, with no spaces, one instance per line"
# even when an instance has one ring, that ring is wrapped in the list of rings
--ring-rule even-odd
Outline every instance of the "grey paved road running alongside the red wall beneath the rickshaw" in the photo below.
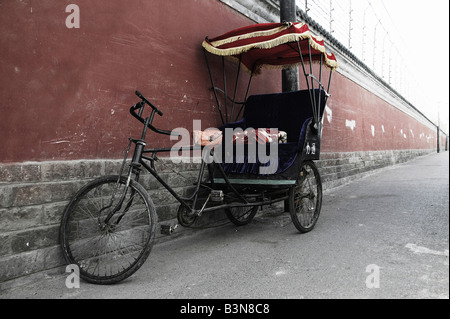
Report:
[[[326,191],[308,234],[280,211],[155,245],[114,286],[58,276],[0,297],[449,298],[448,152]]]

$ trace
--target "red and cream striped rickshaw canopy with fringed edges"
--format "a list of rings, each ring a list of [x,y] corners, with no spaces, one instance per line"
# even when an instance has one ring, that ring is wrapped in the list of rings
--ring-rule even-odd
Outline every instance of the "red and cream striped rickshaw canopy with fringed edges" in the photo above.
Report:
[[[322,60],[331,70],[338,66],[335,55],[327,52],[323,39],[314,36],[302,22],[250,25],[213,39],[206,37],[202,46],[212,54],[241,61],[242,66],[253,73],[260,73],[263,67],[292,67],[302,63],[302,59],[308,63],[310,58],[311,62]]]

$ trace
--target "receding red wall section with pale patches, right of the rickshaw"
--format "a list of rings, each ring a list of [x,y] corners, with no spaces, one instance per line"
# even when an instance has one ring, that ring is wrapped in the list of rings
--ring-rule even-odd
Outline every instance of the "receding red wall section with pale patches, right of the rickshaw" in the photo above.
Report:
[[[327,112],[324,115],[323,151],[436,148],[436,129],[418,122],[340,74],[333,75],[331,94],[327,103],[331,122]]]

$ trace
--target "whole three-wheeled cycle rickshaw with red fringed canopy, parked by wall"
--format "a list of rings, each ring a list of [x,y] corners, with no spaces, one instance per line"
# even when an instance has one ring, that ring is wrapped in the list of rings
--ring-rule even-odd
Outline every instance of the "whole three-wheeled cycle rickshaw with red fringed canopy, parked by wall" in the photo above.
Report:
[[[191,227],[202,214],[219,210],[235,225],[246,225],[259,207],[277,202],[284,202],[300,233],[316,225],[322,183],[314,161],[320,158],[322,118],[337,68],[335,55],[301,22],[246,26],[206,37],[202,47],[222,126],[194,132],[196,143],[181,148],[202,151],[192,193],[181,196],[157,172],[157,154],[171,152],[173,147],[147,148],[151,142],[146,139],[148,130],[172,136],[179,133],[156,128],[153,120],[163,112],[136,91],[140,101],[130,113],[143,124],[143,130],[140,138],[129,138],[119,174],[83,186],[63,213],[63,255],[68,264],[79,268],[82,279],[117,283],[137,271],[150,255],[157,216],[148,191],[139,182],[142,170],[180,203],[177,220],[184,227]],[[221,88],[216,86],[213,72],[217,68],[211,65],[211,56],[222,61]],[[226,60],[237,66],[232,95],[227,90]],[[248,96],[252,79],[263,76],[264,68],[293,66],[301,66],[305,89]],[[322,76],[324,68],[328,76]],[[239,90],[242,70],[249,80]],[[237,93],[242,91],[244,97],[238,101]],[[173,227],[164,231],[170,233]]]

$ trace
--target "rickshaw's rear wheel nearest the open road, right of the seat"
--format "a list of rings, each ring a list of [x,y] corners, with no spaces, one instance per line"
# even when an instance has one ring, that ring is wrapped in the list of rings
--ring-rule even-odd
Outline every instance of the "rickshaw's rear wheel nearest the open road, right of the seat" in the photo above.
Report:
[[[301,233],[311,231],[322,208],[322,181],[312,161],[302,164],[297,184],[289,192],[289,213]]]

